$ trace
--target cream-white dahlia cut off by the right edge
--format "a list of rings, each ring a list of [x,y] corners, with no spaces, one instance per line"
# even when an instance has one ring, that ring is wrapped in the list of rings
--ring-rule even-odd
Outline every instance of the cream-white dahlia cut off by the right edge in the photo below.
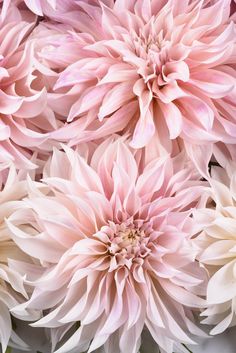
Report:
[[[215,325],[211,333],[218,334],[236,325],[236,165],[227,172],[215,167],[212,174],[212,202],[194,218],[203,229],[196,238],[199,261],[211,275],[203,323]]]

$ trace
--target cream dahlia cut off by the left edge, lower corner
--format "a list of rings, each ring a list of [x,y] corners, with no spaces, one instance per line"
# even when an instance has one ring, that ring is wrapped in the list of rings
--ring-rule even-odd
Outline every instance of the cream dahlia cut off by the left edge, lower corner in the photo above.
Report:
[[[11,167],[4,188],[0,191],[0,344],[4,353],[8,342],[10,345],[27,349],[27,345],[12,330],[9,310],[27,297],[23,278],[11,269],[8,261],[29,261],[29,257],[12,241],[4,222],[21,204],[18,200],[27,194],[26,182],[20,181]]]

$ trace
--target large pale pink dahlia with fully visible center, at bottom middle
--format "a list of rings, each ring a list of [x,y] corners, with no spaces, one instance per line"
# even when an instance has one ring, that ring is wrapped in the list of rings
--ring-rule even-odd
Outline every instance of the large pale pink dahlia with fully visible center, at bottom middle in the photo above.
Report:
[[[145,163],[124,137],[64,148],[45,167],[50,192],[31,189],[7,220],[39,262],[17,263],[33,294],[13,312],[42,311],[33,326],[49,328],[57,353],[137,353],[144,328],[162,352],[194,343],[207,277],[191,214],[205,182],[183,153]]]

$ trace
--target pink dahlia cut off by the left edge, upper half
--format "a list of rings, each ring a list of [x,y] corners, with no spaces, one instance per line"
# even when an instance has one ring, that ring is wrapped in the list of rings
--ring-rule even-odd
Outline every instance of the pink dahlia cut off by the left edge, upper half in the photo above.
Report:
[[[34,43],[27,40],[36,22],[30,11],[20,12],[13,4],[6,11],[0,18],[0,163],[32,169],[32,151],[50,130],[46,89],[34,87]]]

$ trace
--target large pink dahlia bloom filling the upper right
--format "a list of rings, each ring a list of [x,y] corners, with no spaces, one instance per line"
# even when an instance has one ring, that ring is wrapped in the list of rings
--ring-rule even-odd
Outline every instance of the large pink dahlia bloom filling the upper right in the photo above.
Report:
[[[77,101],[67,120],[79,119],[77,130],[69,124],[53,136],[76,144],[95,139],[98,129],[101,137],[125,128],[135,148],[153,136],[164,145],[178,137],[190,144],[235,143],[230,2],[79,1],[64,16],[55,12],[56,20],[73,26],[77,45],[55,89],[68,91],[69,99],[73,88]]]

